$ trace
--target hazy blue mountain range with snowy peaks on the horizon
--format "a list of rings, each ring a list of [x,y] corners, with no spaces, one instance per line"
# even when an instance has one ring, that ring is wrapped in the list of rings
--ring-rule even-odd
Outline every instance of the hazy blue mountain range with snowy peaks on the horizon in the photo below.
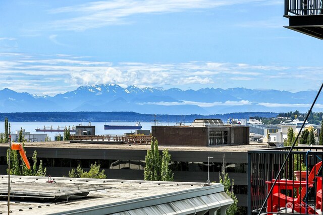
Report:
[[[306,112],[316,91],[288,92],[247,88],[199,90],[81,86],[56,96],[0,91],[0,112],[133,111],[147,114],[223,114],[233,112]],[[319,101],[318,101],[319,103]],[[316,107],[314,111],[321,111]]]

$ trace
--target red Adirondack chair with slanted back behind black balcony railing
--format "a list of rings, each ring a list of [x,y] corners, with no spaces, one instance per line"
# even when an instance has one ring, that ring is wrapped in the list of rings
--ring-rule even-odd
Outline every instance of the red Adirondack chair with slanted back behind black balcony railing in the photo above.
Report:
[[[303,202],[303,198],[305,197],[308,190],[307,187],[313,187],[314,178],[317,175],[319,168],[321,167],[322,162],[318,162],[312,168],[310,173],[308,174],[308,183],[306,181],[296,181],[296,180],[277,180],[272,194],[268,197],[267,201],[267,212],[278,212],[279,208],[286,208],[290,207],[291,209],[299,212],[299,213],[308,213],[308,214],[317,214],[316,211],[307,206],[306,211],[306,203]],[[270,191],[272,185],[274,184],[275,180],[266,181],[265,183],[268,184],[268,192]],[[297,197],[294,196],[294,188],[298,191],[301,188],[300,193],[297,193]],[[292,195],[287,196],[283,194],[281,191],[291,190]]]

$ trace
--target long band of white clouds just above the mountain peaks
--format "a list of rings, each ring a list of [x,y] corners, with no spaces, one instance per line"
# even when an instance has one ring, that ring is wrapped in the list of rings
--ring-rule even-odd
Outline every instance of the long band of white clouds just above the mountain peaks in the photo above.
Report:
[[[35,86],[41,87],[42,92],[50,92],[50,89],[55,87],[57,90],[53,92],[58,92],[61,88],[60,93],[64,93],[81,85],[95,84],[195,90],[206,87],[227,89],[242,86],[273,89],[273,80],[284,83],[282,88],[274,89],[286,90],[294,89],[296,84],[299,86],[304,82],[316,86],[319,80],[323,79],[323,68],[319,66],[291,67],[203,61],[113,64],[96,61],[91,57],[82,59],[83,57],[64,54],[0,53],[0,56],[0,80],[4,80],[0,82],[0,87],[10,87],[10,84],[13,84],[13,81],[9,83],[6,80],[10,76],[16,83],[28,80],[32,86],[21,85],[19,89],[32,90],[32,94],[39,93]]]

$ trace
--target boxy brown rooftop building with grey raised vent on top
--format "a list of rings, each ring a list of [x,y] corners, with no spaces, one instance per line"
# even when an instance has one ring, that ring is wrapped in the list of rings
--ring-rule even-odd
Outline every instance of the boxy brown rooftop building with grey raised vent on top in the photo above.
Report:
[[[151,126],[160,146],[249,144],[249,126],[225,125],[220,119],[195,119],[190,126]]]

